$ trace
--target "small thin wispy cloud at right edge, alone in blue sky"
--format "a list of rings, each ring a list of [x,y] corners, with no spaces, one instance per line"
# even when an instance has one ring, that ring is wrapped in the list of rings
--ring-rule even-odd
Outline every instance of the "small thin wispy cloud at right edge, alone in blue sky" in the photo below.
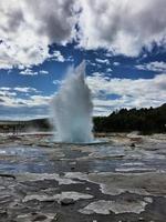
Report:
[[[166,62],[149,62],[145,64],[137,64],[137,69],[139,70],[149,70],[149,71],[155,71],[155,72],[166,72]]]

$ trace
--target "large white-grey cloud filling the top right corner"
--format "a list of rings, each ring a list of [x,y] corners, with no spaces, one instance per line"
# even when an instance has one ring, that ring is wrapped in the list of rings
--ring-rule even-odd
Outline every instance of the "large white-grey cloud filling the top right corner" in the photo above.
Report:
[[[80,0],[80,44],[105,48],[114,53],[137,56],[142,47],[164,44],[165,0]]]

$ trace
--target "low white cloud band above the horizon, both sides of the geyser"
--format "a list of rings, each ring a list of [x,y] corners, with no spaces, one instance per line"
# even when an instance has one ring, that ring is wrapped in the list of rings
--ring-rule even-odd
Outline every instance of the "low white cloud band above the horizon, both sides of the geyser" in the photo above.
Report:
[[[158,107],[166,101],[166,74],[158,74],[153,79],[117,79],[105,77],[104,73],[93,73],[86,77],[86,81],[93,93],[94,114],[105,115],[121,108]],[[61,83],[55,81],[54,83]],[[22,98],[20,93],[28,93]],[[32,93],[32,94],[30,94]],[[34,94],[35,93],[35,94]],[[111,99],[110,95],[117,95]],[[0,88],[0,113],[2,111],[15,113],[24,109],[33,117],[45,115],[52,95],[42,95],[34,88]],[[8,109],[7,109],[8,108]],[[10,108],[10,109],[9,109]],[[29,110],[29,111],[28,111]],[[38,112],[37,112],[38,110]],[[0,114],[0,115],[1,115]],[[49,114],[49,112],[48,112]]]

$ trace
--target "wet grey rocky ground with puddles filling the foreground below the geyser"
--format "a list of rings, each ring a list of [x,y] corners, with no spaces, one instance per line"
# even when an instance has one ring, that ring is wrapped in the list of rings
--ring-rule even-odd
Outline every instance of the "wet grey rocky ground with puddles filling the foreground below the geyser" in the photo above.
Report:
[[[0,135],[0,222],[166,222],[166,135]]]

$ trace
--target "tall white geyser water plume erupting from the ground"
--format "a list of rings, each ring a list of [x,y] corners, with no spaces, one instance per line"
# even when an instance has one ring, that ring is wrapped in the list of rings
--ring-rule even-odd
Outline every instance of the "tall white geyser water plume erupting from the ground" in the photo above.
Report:
[[[52,112],[58,140],[90,143],[92,134],[92,97],[85,82],[85,62],[71,68],[58,94],[52,100]]]

